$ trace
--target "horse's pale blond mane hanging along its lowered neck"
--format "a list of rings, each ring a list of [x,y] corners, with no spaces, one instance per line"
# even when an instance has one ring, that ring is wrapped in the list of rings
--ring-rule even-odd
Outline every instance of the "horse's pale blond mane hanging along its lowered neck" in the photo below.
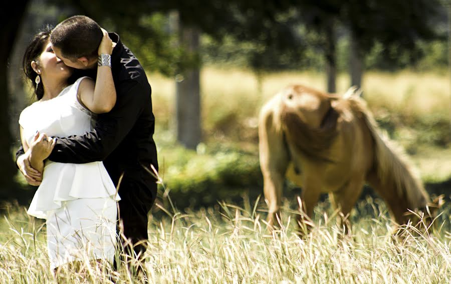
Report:
[[[405,206],[396,210],[402,209],[407,212],[407,209],[424,208],[429,202],[429,196],[402,149],[380,133],[376,121],[362,99],[353,96],[348,102],[354,112],[360,113],[374,141],[373,184],[369,179],[370,184],[377,187],[374,189],[384,199],[391,200],[391,204],[390,201],[388,203],[389,206],[393,206],[390,207]]]

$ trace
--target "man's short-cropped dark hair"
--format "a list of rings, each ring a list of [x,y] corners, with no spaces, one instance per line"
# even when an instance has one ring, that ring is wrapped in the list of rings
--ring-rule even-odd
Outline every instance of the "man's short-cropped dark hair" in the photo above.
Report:
[[[77,59],[97,56],[102,37],[102,30],[94,20],[86,16],[73,16],[53,29],[50,41],[61,49],[64,57]]]

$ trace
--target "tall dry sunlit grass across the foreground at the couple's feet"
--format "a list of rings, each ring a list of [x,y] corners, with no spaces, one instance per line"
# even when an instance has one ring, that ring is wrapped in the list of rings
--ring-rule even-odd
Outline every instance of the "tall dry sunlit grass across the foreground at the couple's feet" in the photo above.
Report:
[[[266,228],[265,206],[258,200],[197,211],[165,208],[166,214],[149,222],[143,268],[152,283],[446,283],[451,280],[449,209],[442,210],[432,234],[415,235],[411,228],[394,231],[385,205],[367,199],[352,212],[348,236],[323,202],[315,210],[315,227],[302,239],[296,234],[296,206],[289,201],[282,226],[273,233]],[[20,208],[13,208],[8,222],[1,223],[2,283],[55,283],[42,238],[45,228],[34,235],[34,223]],[[115,272],[89,262],[82,265],[84,273],[63,271],[63,282],[144,279],[125,268]]]

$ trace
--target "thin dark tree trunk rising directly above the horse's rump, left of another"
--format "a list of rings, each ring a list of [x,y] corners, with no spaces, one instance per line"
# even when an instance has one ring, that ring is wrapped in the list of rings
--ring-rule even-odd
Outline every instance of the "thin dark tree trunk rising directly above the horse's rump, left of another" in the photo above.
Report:
[[[326,78],[327,78],[327,92],[336,92],[337,80],[337,60],[336,60],[336,37],[333,21],[329,22],[326,27]]]

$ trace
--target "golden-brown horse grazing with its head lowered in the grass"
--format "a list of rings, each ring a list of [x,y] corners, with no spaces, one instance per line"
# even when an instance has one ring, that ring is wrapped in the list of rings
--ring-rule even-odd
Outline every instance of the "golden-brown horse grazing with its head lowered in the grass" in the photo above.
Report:
[[[421,181],[405,155],[379,134],[356,88],[342,97],[302,85],[285,88],[263,106],[259,138],[270,227],[277,224],[285,177],[302,187],[301,212],[308,217],[325,192],[347,216],[365,182],[398,224],[407,223],[409,210],[430,212]],[[307,217],[299,218],[305,225]]]

